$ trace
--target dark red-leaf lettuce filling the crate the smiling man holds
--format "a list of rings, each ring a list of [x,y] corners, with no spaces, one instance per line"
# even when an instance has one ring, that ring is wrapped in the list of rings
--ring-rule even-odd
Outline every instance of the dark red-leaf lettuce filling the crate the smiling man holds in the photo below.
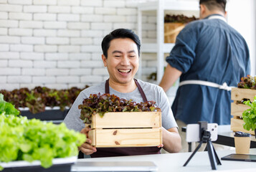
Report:
[[[79,105],[78,108],[81,109],[81,120],[84,120],[84,123],[87,124],[92,122],[90,118],[96,113],[103,117],[107,112],[161,111],[160,108],[157,108],[156,102],[153,101],[136,103],[133,100],[125,100],[116,95],[100,95],[100,93],[90,95],[82,101],[82,105]]]

